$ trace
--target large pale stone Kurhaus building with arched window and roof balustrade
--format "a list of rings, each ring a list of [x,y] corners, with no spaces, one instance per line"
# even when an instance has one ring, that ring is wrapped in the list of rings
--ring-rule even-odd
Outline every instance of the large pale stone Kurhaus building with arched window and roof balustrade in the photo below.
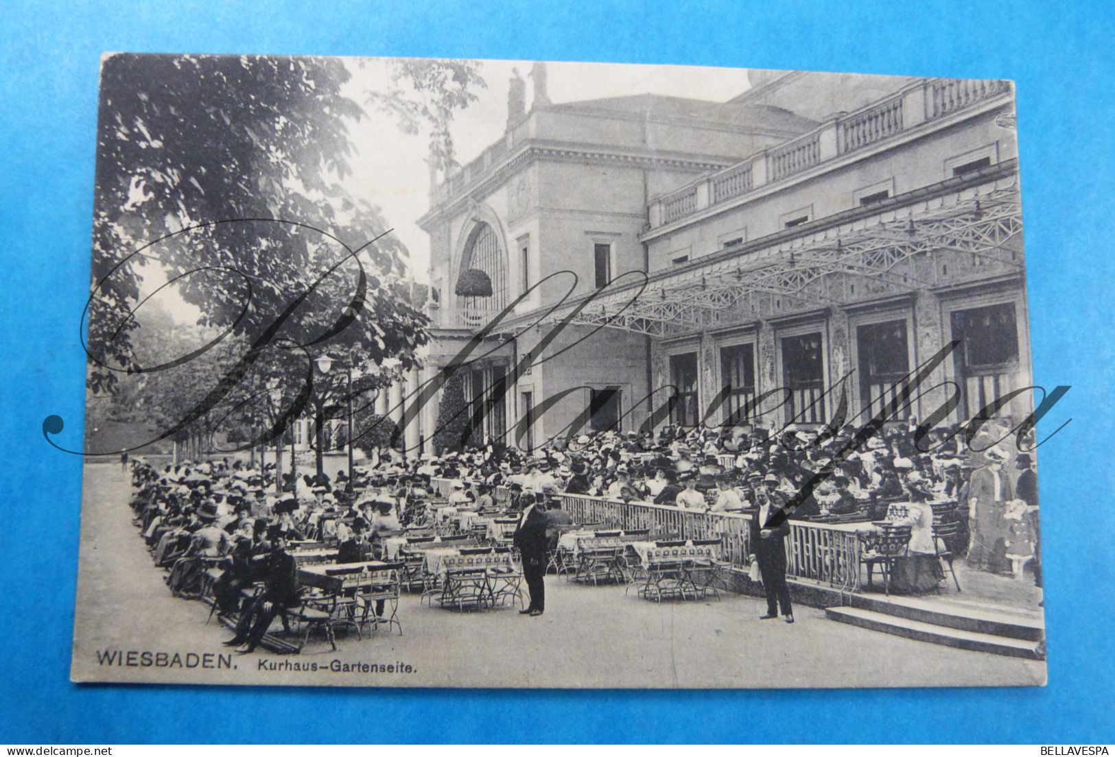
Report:
[[[435,339],[384,409],[513,303],[473,352],[465,392],[483,402],[479,436],[531,418],[508,437],[523,447],[579,419],[636,429],[659,407],[655,425],[816,425],[838,386],[851,419],[953,339],[900,416],[931,415],[953,385],[951,420],[1028,386],[1009,84],[750,79],[728,103],[555,105],[537,87],[530,110],[511,103],[504,133],[433,182],[419,223]],[[491,294],[468,288],[476,270]],[[436,417],[430,402],[408,447],[428,444]]]

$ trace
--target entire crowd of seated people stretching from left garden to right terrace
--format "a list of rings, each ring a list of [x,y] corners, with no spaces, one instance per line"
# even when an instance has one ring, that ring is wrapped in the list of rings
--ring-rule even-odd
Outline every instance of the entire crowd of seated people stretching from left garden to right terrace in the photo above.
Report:
[[[828,433],[794,426],[667,426],[648,435],[581,435],[532,453],[487,444],[440,455],[425,453],[409,463],[384,454],[377,455],[375,468],[357,469],[356,481],[349,482],[343,473],[334,482],[327,476],[287,476],[278,495],[270,494],[275,488],[271,467],[249,468],[227,459],[156,467],[138,458],[133,460],[132,505],[153,560],[168,571],[171,591],[197,596],[206,569],[219,565],[223,572],[213,593],[227,615],[246,614],[240,603],[242,590],[265,582],[279,570],[274,555],[280,544],[287,549],[308,540],[328,542],[348,545],[342,550],[348,556],[379,556],[385,534],[436,525],[428,506],[434,479],[450,479],[447,504],[459,512],[513,514],[526,503],[540,502],[550,507],[555,524],[570,520],[555,498],[561,494],[731,513],[754,509],[755,492],[762,488],[783,505],[797,503],[791,518],[867,523],[886,518],[891,503],[951,502],[956,506],[935,516],[958,523],[956,542],[948,546],[962,556],[969,547],[969,521],[987,521],[983,509],[977,517],[975,498],[970,508],[966,506],[973,456],[962,435],[954,427],[934,429],[921,445],[929,452],[922,453],[914,443],[913,421],[888,426],[862,441],[853,438],[855,431],[852,426]],[[837,452],[841,459],[832,475],[808,497],[795,497]],[[978,506],[1009,509],[1002,503]],[[991,518],[1009,537],[997,549],[1005,555],[1014,549],[1009,556],[1017,563],[1026,559],[1017,554],[1018,545],[1025,544],[1032,554],[1035,536],[1019,533],[1030,520],[1007,523],[1004,518],[1009,515],[1004,513]],[[1007,566],[1009,571],[1009,561]],[[265,630],[268,613],[253,614],[254,627]],[[251,643],[250,635],[251,628],[237,632],[236,639]]]

